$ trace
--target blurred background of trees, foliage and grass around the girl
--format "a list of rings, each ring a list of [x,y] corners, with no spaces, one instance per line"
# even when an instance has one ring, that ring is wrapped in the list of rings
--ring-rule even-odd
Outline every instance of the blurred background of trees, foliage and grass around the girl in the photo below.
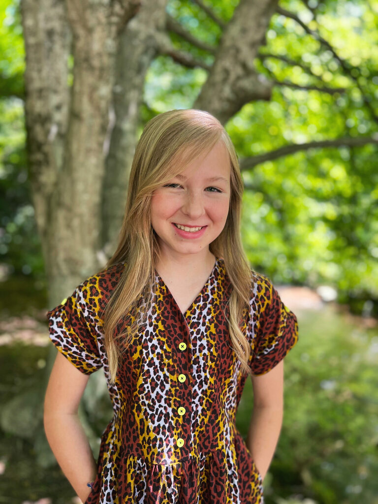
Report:
[[[43,432],[46,311],[112,254],[146,121],[200,108],[237,149],[251,266],[299,323],[266,503],[378,503],[378,2],[117,5],[0,0],[0,502],[80,502]]]

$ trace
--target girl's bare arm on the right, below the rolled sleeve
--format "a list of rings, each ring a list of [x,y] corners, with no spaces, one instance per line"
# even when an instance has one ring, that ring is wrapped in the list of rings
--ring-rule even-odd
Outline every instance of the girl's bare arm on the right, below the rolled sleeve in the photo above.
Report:
[[[247,447],[264,479],[280,435],[283,416],[283,360],[271,371],[252,377],[254,409]]]

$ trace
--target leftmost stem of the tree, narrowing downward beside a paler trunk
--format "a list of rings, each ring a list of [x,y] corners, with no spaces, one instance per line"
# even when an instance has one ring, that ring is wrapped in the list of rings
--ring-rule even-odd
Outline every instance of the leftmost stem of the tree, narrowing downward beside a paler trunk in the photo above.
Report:
[[[51,209],[63,166],[69,120],[68,58],[72,37],[64,2],[23,0],[21,13],[29,179],[43,256],[51,270],[51,247],[55,248],[51,242]]]

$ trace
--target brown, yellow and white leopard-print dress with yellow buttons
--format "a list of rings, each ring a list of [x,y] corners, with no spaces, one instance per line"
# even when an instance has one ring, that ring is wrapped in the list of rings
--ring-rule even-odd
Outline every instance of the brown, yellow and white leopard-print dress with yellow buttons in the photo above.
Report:
[[[85,374],[103,368],[113,406],[85,504],[262,504],[261,475],[235,427],[246,376],[222,312],[230,294],[223,259],[185,313],[155,270],[155,302],[111,385],[98,313],[123,269],[88,278],[47,313],[59,352]],[[254,271],[244,315],[250,368],[266,373],[295,345],[296,317]]]

